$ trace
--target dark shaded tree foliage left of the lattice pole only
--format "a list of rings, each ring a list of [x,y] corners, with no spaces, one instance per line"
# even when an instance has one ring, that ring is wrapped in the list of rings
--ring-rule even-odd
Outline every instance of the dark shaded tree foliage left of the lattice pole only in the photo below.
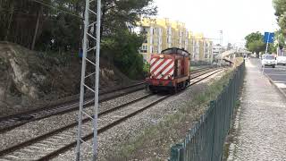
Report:
[[[58,51],[71,47],[73,44],[70,44],[71,38],[66,37],[66,32],[70,32],[69,37],[79,42],[80,13],[83,12],[81,5],[80,0],[2,0],[0,40],[31,49],[36,44],[38,50],[49,47],[48,49]],[[75,47],[79,45],[78,43]]]

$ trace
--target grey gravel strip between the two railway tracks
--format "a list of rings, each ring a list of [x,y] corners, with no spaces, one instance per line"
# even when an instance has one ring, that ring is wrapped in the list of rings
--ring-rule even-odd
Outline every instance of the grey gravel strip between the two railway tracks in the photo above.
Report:
[[[115,106],[120,106],[144,95],[147,95],[147,92],[145,90],[140,90],[123,97],[118,97],[110,101],[103,102],[99,105],[99,113]],[[92,114],[92,110],[90,107],[86,108],[86,111],[89,114]],[[67,114],[53,115],[42,120],[26,123],[11,131],[1,133],[0,150],[11,147],[24,140],[35,138],[48,131],[59,129],[67,124],[77,122],[77,114],[77,111],[73,111]]]

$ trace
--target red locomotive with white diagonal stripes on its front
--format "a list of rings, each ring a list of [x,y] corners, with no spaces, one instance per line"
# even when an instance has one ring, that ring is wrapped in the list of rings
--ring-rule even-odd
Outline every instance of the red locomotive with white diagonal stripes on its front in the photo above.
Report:
[[[151,55],[150,77],[147,88],[152,92],[168,90],[176,92],[189,85],[190,54],[181,48],[168,48],[161,54]]]

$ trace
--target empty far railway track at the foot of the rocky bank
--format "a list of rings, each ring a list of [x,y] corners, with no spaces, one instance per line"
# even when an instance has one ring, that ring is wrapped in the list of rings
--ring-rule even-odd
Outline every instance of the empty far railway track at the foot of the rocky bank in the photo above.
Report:
[[[132,92],[139,91],[145,88],[145,82],[139,82],[132,84],[130,86],[122,87],[119,89],[112,89],[100,92],[99,103],[105,102],[116,97],[122,97],[124,95],[130,94]],[[93,104],[94,96],[88,96],[84,102],[84,106],[90,106]],[[79,108],[79,99],[64,102],[56,106],[48,106],[45,108],[40,108],[36,110],[31,110],[29,112],[24,112],[20,114],[13,114],[7,117],[0,118],[0,133],[4,131],[12,130],[24,123],[29,123],[44,119],[55,114],[65,114]]]

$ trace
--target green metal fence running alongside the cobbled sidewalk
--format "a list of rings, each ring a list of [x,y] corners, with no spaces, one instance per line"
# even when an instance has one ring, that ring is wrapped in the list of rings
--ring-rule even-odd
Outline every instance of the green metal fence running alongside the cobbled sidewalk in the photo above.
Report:
[[[211,101],[206,113],[189,130],[183,143],[172,146],[171,161],[219,161],[223,143],[231,126],[236,100],[243,84],[245,64],[236,69],[222,93]]]

